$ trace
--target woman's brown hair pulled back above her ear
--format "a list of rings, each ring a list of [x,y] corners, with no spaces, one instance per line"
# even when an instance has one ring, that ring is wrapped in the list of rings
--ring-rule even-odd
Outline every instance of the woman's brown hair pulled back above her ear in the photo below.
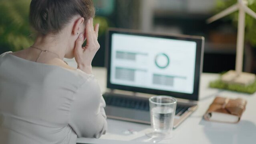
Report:
[[[29,22],[39,34],[58,33],[75,15],[85,22],[95,15],[91,0],[32,0]]]

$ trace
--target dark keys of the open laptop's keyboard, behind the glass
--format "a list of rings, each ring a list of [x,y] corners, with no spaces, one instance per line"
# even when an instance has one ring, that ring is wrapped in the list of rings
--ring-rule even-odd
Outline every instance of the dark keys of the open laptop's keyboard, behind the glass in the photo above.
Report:
[[[103,98],[105,99],[105,102],[108,106],[118,106],[123,108],[149,111],[149,100],[109,95],[103,95]],[[176,107],[175,115],[181,116],[188,109],[189,106],[178,104]]]

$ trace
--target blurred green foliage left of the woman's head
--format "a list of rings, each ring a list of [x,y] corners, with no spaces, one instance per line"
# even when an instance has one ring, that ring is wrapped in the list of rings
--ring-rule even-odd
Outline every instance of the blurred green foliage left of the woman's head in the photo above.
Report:
[[[32,44],[29,4],[30,0],[0,0],[0,48],[17,51]]]

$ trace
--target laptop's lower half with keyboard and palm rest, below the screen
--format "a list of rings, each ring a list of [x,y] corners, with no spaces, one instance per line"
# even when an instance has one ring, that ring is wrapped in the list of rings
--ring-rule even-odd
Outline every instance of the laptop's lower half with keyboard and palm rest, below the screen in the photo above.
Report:
[[[105,93],[103,97],[107,104],[107,118],[150,124],[148,98],[113,93]],[[179,126],[197,108],[197,104],[178,101],[173,128]]]

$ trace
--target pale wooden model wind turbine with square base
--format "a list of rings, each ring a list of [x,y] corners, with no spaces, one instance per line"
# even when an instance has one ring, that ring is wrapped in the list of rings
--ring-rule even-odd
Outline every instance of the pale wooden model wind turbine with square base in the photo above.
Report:
[[[247,0],[237,0],[237,3],[230,6],[226,10],[212,16],[207,20],[208,23],[214,22],[236,10],[238,14],[238,34],[236,43],[236,71],[230,70],[226,74],[222,75],[222,81],[229,83],[238,83],[248,85],[255,81],[255,75],[242,72],[243,68],[243,55],[244,55],[244,30],[245,30],[245,14],[249,14],[256,19],[256,13],[247,6]]]

